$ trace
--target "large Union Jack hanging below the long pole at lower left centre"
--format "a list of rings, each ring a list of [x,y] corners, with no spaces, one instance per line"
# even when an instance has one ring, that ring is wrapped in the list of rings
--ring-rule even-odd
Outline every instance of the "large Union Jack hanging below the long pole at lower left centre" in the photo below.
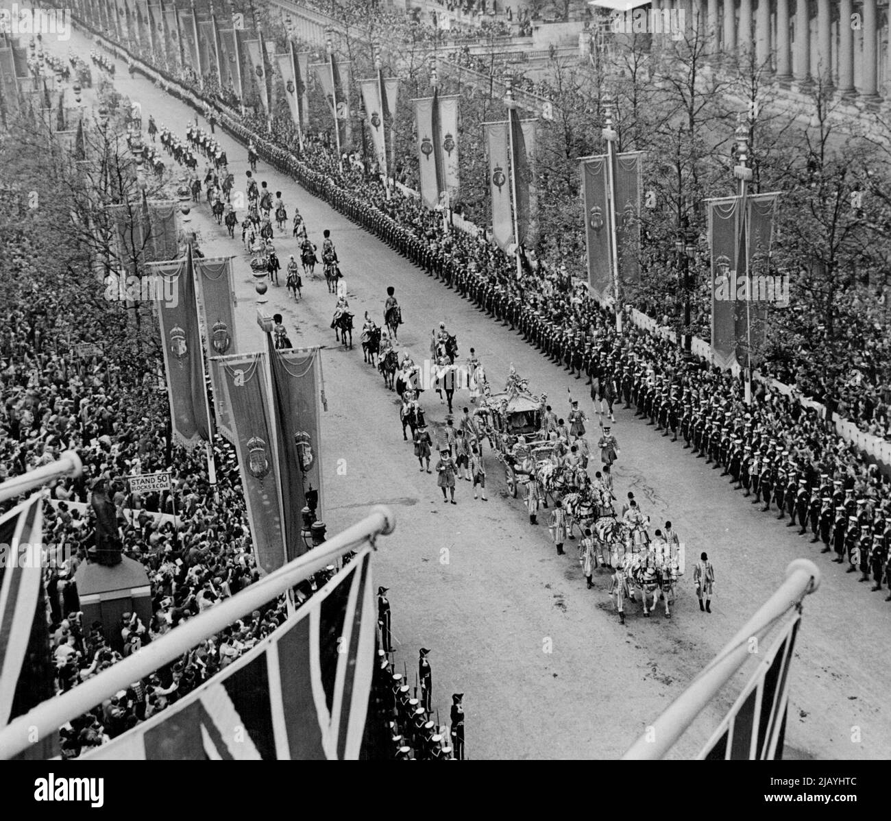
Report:
[[[374,665],[372,588],[366,544],[272,635],[167,710],[82,758],[358,759]]]

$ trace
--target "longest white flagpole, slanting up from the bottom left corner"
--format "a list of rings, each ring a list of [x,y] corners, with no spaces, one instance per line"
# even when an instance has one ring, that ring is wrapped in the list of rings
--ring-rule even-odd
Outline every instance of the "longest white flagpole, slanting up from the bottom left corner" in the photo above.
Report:
[[[373,544],[377,536],[389,535],[395,528],[396,518],[392,511],[378,506],[361,522],[337,533],[317,548],[255,581],[240,593],[224,599],[165,636],[143,646],[138,654],[127,656],[94,679],[87,679],[67,693],[38,704],[0,730],[0,760],[10,759],[27,749],[35,743],[36,738],[45,738],[58,732],[67,721],[78,718],[119,690],[127,689],[134,681],[145,678],[164,664],[189,652],[205,638],[216,635],[244,614],[281,596],[313,573],[331,565],[344,553],[356,549],[366,541]]]

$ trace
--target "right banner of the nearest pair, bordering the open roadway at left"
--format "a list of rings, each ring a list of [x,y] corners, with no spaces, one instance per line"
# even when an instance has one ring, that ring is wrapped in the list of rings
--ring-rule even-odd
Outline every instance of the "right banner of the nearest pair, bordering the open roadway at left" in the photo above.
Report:
[[[279,350],[269,340],[275,429],[281,465],[288,561],[307,552],[300,536],[301,510],[323,521],[322,354],[317,348]]]

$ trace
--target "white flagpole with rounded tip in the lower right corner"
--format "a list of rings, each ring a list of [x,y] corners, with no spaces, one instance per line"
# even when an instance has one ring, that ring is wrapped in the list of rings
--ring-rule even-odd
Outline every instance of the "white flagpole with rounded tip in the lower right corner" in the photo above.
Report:
[[[820,587],[820,569],[812,561],[798,558],[786,568],[786,581],[758,608],[742,629],[699,673],[665,712],[656,719],[622,757],[622,760],[658,760],[668,752],[702,709],[731,679],[748,658],[749,639],[775,626],[776,622],[800,605],[801,600]]]

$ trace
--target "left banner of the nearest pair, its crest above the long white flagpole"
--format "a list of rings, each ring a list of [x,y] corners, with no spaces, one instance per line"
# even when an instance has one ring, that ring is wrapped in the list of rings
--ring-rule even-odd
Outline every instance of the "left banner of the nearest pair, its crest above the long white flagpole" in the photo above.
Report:
[[[233,354],[212,362],[222,376],[220,402],[232,420],[254,556],[272,573],[284,564],[284,517],[266,354]]]

